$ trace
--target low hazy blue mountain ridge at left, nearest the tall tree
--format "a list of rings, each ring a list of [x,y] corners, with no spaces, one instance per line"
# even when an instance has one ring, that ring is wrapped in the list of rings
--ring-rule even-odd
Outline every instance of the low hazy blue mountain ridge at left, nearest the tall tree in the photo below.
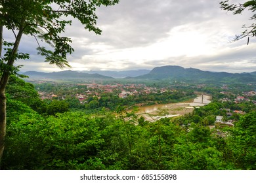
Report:
[[[60,71],[53,73],[42,73],[28,71],[22,75],[29,76],[31,79],[54,79],[54,80],[77,80],[77,79],[114,79],[110,76],[98,74],[79,73],[77,71]]]

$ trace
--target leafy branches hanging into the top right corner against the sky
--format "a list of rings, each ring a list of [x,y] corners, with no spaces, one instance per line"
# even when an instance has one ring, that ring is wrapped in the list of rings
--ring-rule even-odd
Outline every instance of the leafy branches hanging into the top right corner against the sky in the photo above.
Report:
[[[232,4],[227,1],[221,1],[221,8],[224,10],[233,12],[233,14],[242,14],[245,9],[251,10],[251,12],[255,12],[256,10],[256,1],[246,1],[245,3],[241,4]],[[251,20],[256,20],[256,14],[253,14],[250,18]],[[240,35],[236,35],[234,41],[237,41],[239,39],[243,39],[244,37],[248,37],[247,44],[249,44],[249,37],[255,37],[256,36],[256,24],[251,24],[249,26],[243,25],[243,28],[245,28],[245,31],[243,31]]]

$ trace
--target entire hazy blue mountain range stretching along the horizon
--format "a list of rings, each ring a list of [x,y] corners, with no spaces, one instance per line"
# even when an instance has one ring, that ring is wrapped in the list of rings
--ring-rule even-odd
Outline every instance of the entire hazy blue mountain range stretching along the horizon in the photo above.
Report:
[[[23,75],[31,79],[56,79],[56,80],[77,80],[77,79],[114,79],[129,78],[133,80],[184,80],[188,82],[256,82],[256,71],[253,73],[226,73],[201,71],[194,68],[183,68],[177,65],[155,67],[150,70],[137,71],[60,71],[53,73],[42,73],[28,71]]]

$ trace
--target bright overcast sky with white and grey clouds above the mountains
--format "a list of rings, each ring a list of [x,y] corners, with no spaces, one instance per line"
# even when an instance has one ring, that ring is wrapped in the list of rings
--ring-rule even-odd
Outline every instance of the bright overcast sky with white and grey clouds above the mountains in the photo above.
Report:
[[[244,3],[245,1],[231,1]],[[120,0],[96,10],[101,35],[83,29],[77,20],[66,28],[75,52],[64,70],[125,71],[179,65],[202,71],[256,71],[256,41],[232,41],[250,25],[250,12],[233,15],[219,0]],[[12,36],[12,35],[9,35]],[[22,37],[20,52],[30,54],[20,71],[62,71],[37,55],[35,39]]]

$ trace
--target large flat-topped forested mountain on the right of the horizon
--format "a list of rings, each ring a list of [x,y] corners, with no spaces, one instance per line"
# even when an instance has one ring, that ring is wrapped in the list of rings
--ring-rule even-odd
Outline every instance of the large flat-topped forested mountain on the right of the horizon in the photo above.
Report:
[[[137,79],[148,80],[162,80],[162,79],[175,79],[187,81],[238,81],[238,82],[256,82],[256,75],[254,73],[213,73],[209,71],[201,71],[200,69],[188,68],[184,69],[180,66],[163,66],[155,67],[152,71],[143,76],[137,76]]]

